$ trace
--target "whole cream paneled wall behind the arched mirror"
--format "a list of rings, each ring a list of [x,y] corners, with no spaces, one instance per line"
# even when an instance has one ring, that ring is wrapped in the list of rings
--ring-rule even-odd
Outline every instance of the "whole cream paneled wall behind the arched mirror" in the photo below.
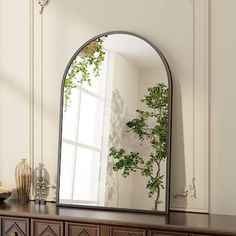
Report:
[[[41,161],[41,16],[35,1],[33,78],[30,71],[30,2],[32,1],[0,2],[0,181],[11,186],[14,185],[14,168],[19,158],[27,156],[29,159],[34,157],[35,163]],[[207,65],[207,61],[201,60],[199,55],[207,56],[207,47],[198,45],[202,37],[199,32],[206,30],[207,35],[208,29],[204,28],[203,20],[207,21],[208,15],[203,14],[204,9],[201,7],[207,2],[208,0],[150,0],[148,3],[145,0],[71,0],[70,3],[67,0],[50,1],[43,16],[45,106],[42,140],[43,156],[52,182],[57,168],[59,94],[64,68],[74,51],[87,39],[104,31],[127,30],[143,35],[157,45],[166,56],[173,74],[172,196],[191,183],[195,161],[198,198],[187,198],[185,201],[172,199],[172,203],[175,207],[181,206],[181,209],[186,206],[192,209],[197,202],[198,208],[207,210],[207,200],[204,199],[208,198],[209,192],[208,172],[207,162],[204,164],[203,160],[207,160],[208,155],[197,151],[210,147],[211,212],[236,214],[234,0],[210,1],[209,146],[207,135],[205,139],[199,138],[201,135],[195,136],[202,130],[208,130],[207,125],[203,122],[202,125],[194,126],[193,123],[198,122],[199,114],[203,114],[201,117],[205,117],[207,121],[207,106],[196,104],[198,109],[195,112],[192,109],[193,84],[199,89],[194,93],[196,102],[202,101],[204,96],[201,91],[207,89],[198,86],[201,73],[205,70],[204,65]],[[195,34],[194,14],[197,22]],[[196,57],[193,57],[194,53]],[[197,60],[194,61],[193,58]],[[194,62],[203,65],[194,70]],[[33,90],[30,86],[32,79]],[[30,118],[29,98],[32,91],[35,95],[34,139],[32,136],[30,138],[32,117]],[[194,150],[195,159],[192,158]]]

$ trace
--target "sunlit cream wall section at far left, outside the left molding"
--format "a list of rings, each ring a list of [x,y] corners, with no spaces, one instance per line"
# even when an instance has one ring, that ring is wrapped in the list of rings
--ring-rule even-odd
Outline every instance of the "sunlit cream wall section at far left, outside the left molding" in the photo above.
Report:
[[[29,3],[1,0],[0,181],[11,187],[17,162],[31,155],[29,36]]]

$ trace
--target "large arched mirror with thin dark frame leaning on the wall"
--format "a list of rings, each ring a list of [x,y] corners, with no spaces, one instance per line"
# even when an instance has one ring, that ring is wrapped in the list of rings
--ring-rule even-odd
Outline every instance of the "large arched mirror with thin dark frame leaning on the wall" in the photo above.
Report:
[[[85,43],[63,77],[57,204],[167,213],[171,73],[127,32]]]

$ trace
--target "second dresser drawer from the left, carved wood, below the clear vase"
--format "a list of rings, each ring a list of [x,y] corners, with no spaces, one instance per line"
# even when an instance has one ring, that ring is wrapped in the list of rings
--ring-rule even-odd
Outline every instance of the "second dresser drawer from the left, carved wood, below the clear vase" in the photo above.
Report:
[[[31,221],[32,236],[63,236],[63,222],[50,220]]]

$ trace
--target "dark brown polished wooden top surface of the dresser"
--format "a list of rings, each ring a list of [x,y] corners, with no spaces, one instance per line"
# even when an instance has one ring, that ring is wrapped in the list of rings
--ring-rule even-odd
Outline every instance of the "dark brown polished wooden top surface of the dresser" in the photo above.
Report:
[[[93,224],[109,224],[158,229],[173,229],[214,234],[236,235],[236,216],[170,212],[168,215],[104,211],[57,207],[55,203],[36,205],[33,201],[19,205],[16,201],[0,203],[0,215],[66,220]]]

